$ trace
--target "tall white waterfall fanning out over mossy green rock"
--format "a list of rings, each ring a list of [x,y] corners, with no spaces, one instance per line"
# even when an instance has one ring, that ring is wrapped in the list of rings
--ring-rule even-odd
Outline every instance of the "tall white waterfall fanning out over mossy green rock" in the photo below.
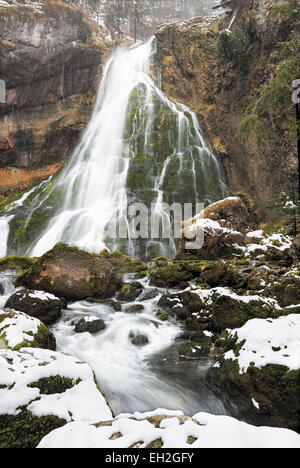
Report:
[[[126,240],[111,238],[107,225],[122,220],[127,229],[130,203],[153,205],[171,223],[163,202],[207,204],[226,194],[196,115],[170,100],[155,74],[153,39],[120,47],[111,56],[91,121],[70,162],[10,207],[11,253],[40,256],[64,242],[89,252],[120,248],[138,257],[145,252],[173,256],[173,238],[131,239],[129,232]]]

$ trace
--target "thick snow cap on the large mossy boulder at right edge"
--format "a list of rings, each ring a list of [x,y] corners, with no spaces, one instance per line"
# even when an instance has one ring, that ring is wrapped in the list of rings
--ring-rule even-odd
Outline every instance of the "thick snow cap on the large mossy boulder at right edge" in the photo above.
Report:
[[[268,364],[300,369],[300,315],[291,314],[278,319],[253,319],[233,330],[237,344],[243,343],[239,356],[225,353],[226,360],[238,361],[240,373],[247,372],[251,363],[262,368]]]

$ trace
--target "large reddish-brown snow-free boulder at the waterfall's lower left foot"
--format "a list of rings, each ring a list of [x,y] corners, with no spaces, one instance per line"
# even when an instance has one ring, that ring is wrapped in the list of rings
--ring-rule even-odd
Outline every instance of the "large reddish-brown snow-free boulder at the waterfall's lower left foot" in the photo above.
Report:
[[[105,256],[59,244],[20,276],[17,285],[47,291],[67,300],[103,299],[115,294],[121,279]]]

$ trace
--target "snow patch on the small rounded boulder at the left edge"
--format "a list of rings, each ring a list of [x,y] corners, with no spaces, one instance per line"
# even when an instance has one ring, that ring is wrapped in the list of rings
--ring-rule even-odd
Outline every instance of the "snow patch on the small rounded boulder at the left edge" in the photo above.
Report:
[[[3,317],[5,317],[4,320]],[[24,341],[33,342],[41,325],[40,320],[22,312],[12,310],[8,313],[7,310],[0,310],[0,349],[6,348],[3,340],[11,349],[21,345]]]

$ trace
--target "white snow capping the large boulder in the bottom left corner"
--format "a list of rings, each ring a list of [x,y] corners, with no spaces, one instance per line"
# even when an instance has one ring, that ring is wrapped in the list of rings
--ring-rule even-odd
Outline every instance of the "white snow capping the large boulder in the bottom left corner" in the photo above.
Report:
[[[72,379],[74,386],[53,395],[29,386],[56,376]],[[87,364],[44,349],[0,350],[0,414],[17,415],[23,406],[36,416],[52,414],[68,422],[95,423],[112,418]]]

